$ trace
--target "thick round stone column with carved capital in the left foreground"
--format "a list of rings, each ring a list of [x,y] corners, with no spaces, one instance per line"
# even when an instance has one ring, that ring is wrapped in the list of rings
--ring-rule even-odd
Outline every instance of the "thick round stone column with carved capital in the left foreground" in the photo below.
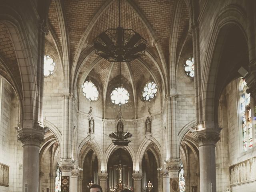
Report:
[[[23,144],[22,192],[39,191],[39,149],[44,132],[34,128],[18,130],[18,140]]]

